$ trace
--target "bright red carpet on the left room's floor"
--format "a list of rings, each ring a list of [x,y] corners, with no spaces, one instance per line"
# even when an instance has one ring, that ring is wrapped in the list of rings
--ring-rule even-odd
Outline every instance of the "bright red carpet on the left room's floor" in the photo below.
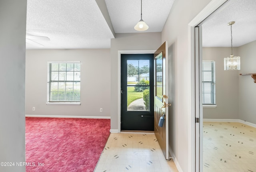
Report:
[[[26,172],[93,172],[109,130],[109,119],[26,117]]]

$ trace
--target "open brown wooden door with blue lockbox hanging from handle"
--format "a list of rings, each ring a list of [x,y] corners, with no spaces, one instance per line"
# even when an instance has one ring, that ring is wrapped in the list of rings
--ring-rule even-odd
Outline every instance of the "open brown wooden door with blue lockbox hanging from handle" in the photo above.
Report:
[[[154,53],[154,132],[166,159],[169,159],[168,140],[168,44],[164,42]],[[164,124],[158,126],[165,115]]]

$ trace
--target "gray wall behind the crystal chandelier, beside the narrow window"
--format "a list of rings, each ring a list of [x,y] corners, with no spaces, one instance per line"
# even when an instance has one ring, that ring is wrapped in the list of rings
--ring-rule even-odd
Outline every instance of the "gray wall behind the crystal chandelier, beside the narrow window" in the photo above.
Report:
[[[203,60],[215,60],[216,108],[203,108],[203,117],[210,119],[238,119],[238,70],[224,71],[224,58],[231,54],[229,47],[204,47]],[[238,56],[238,48],[233,48]]]

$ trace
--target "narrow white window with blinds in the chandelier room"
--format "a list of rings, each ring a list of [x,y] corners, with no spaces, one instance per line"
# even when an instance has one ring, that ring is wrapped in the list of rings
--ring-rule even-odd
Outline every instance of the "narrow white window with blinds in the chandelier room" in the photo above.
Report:
[[[207,63],[206,65],[211,66],[211,70],[204,69],[204,63]],[[211,74],[208,76],[211,78],[209,81],[204,81],[204,72],[211,72]],[[204,91],[204,83],[210,83],[211,84],[211,91],[210,96],[205,96],[206,93]],[[208,92],[209,93],[209,92]],[[210,103],[205,103],[205,97],[210,97]],[[216,107],[216,62],[215,60],[202,60],[202,105],[203,107]]]

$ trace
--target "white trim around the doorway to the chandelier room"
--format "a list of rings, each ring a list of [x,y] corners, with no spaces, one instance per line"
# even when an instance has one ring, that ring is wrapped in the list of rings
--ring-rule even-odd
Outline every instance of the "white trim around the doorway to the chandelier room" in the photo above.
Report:
[[[199,14],[191,20],[191,22],[188,24],[188,76],[189,76],[189,112],[191,113],[189,115],[189,127],[188,127],[188,156],[189,162],[188,162],[188,168],[191,169],[191,172],[199,172],[202,171],[202,156],[196,157],[196,142],[200,142],[200,140],[196,140],[195,138],[195,118],[199,114],[195,113],[196,107],[195,100],[199,100],[199,93],[195,93],[195,73],[198,73],[199,69],[195,68],[195,27],[198,26],[200,23],[202,23],[208,16],[210,16],[213,12],[218,10],[223,4],[225,4],[228,0],[212,0]],[[202,114],[201,114],[202,115]],[[200,116],[202,118],[202,116]],[[202,119],[201,119],[202,121]],[[198,131],[199,132],[199,131]],[[199,133],[198,133],[199,134]],[[201,153],[199,153],[201,154]],[[196,166],[196,160],[200,161],[200,167],[198,167],[198,163]]]

